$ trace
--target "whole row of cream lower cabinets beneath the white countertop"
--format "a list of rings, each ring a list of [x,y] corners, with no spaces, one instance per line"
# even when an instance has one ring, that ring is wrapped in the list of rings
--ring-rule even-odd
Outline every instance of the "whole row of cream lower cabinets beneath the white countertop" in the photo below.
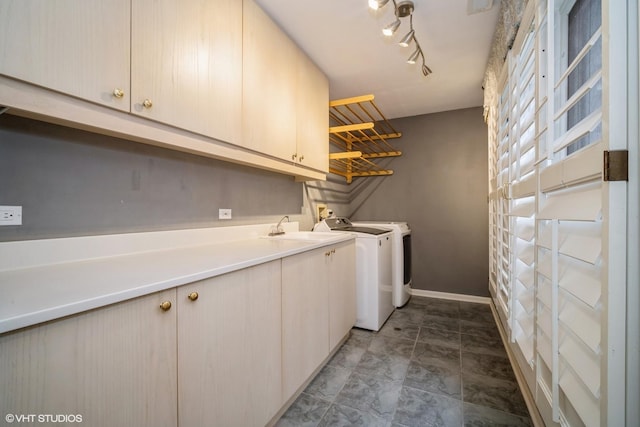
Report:
[[[5,333],[0,414],[263,426],[355,323],[354,276],[348,242]]]

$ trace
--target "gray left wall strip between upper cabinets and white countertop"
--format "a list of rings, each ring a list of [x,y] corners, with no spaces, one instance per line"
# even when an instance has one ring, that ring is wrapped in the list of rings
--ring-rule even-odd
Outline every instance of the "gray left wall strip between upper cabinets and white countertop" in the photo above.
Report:
[[[0,205],[23,207],[0,241],[300,220],[303,205],[290,176],[8,114],[0,183]]]

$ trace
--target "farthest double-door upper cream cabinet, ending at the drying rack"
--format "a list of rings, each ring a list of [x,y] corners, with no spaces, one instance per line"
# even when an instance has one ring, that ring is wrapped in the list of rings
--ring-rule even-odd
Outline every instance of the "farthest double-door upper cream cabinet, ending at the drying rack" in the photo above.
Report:
[[[243,30],[243,145],[328,172],[326,76],[253,0]]]

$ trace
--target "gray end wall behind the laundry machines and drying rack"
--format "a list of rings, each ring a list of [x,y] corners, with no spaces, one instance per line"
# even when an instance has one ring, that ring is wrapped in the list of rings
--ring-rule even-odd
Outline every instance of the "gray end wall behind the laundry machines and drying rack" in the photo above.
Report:
[[[488,296],[487,128],[482,108],[393,120],[393,175],[366,180],[351,218],[406,220],[418,289]]]

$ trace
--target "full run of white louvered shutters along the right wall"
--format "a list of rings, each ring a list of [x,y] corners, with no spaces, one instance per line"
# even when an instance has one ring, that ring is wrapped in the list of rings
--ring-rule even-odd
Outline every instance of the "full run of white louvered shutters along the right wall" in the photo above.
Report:
[[[602,179],[603,152],[626,148],[611,65],[624,11],[532,0],[490,134],[490,289],[537,405],[560,425],[625,423],[626,187]]]

